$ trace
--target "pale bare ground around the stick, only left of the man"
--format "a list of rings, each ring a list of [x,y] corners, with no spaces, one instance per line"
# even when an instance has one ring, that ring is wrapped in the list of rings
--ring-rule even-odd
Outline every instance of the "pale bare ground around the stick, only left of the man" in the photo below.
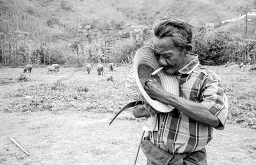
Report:
[[[113,114],[51,112],[2,114],[0,137],[2,164],[131,164],[134,161],[141,122],[115,120]],[[10,119],[11,117],[11,119]],[[30,156],[16,147],[23,146]],[[142,153],[138,162],[145,161]],[[138,163],[139,164],[139,163]]]

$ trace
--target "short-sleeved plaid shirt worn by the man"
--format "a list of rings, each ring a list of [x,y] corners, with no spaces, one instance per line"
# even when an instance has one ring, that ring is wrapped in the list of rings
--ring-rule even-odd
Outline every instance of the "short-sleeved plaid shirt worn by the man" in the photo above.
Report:
[[[215,129],[222,130],[227,117],[227,97],[218,75],[200,65],[197,55],[178,72],[179,96],[203,104],[220,121]],[[149,140],[172,154],[200,150],[212,139],[212,127],[189,118],[176,108],[158,113],[157,119],[158,131],[149,131]]]

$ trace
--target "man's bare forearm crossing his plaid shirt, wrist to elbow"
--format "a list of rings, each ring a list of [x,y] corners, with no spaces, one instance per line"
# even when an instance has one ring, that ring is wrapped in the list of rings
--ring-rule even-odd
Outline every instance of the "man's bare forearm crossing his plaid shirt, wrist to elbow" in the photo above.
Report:
[[[187,100],[168,93],[167,91],[162,93],[161,97],[159,97],[159,101],[179,109],[190,118],[200,123],[211,127],[216,127],[219,124],[219,119],[198,102]]]

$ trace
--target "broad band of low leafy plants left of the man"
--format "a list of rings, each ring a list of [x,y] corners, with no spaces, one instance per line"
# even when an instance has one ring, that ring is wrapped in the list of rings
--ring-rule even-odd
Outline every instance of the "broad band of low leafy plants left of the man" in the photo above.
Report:
[[[122,93],[123,87],[123,81],[118,79],[97,82],[67,80],[57,81],[53,85],[30,84],[5,92],[4,97],[16,99],[8,100],[5,106],[0,107],[0,111],[58,111],[71,107],[74,110],[116,112],[130,101]]]

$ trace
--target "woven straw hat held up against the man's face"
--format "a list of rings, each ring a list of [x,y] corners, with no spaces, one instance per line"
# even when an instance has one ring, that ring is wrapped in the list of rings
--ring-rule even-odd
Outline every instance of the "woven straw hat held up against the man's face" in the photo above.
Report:
[[[158,60],[155,56],[154,50],[151,47],[144,46],[136,52],[133,61],[133,68],[136,83],[141,94],[147,103],[149,103],[154,109],[160,112],[169,112],[173,110],[174,107],[151,99],[144,90],[145,81],[149,80],[150,74],[159,67]],[[154,75],[154,78],[160,81],[164,90],[174,95],[179,94],[178,80],[175,75],[168,75],[160,70],[158,73],[156,73],[156,75]]]

